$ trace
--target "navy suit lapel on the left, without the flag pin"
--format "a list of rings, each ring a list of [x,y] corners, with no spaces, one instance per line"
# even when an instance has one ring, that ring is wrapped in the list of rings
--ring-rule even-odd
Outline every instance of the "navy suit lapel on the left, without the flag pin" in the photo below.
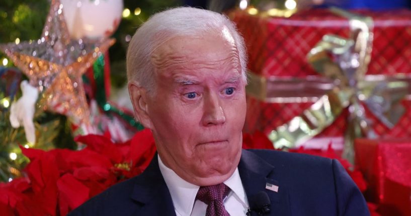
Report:
[[[157,154],[136,180],[130,198],[141,205],[133,215],[176,215],[169,188],[158,167]]]

